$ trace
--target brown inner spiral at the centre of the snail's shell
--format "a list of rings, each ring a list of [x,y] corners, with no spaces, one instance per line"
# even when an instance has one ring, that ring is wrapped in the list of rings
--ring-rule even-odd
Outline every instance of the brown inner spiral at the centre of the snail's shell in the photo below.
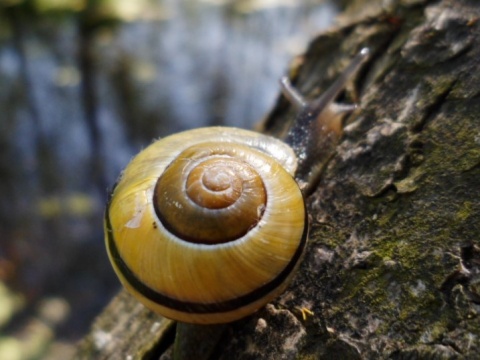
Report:
[[[155,211],[164,226],[181,239],[203,244],[232,241],[255,227],[267,194],[255,168],[259,161],[249,159],[250,153],[226,142],[184,150],[155,186]]]

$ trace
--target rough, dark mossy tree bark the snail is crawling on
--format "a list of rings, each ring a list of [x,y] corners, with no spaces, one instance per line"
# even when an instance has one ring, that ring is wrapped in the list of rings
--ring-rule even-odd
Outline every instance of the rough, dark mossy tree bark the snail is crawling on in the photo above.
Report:
[[[307,199],[310,243],[294,283],[229,325],[217,358],[480,356],[480,6],[389,4],[352,6],[292,68],[313,96],[372,50],[347,96],[361,109]],[[292,113],[280,100],[265,130],[280,134]],[[122,293],[78,357],[158,357],[172,338],[155,330],[164,324]]]

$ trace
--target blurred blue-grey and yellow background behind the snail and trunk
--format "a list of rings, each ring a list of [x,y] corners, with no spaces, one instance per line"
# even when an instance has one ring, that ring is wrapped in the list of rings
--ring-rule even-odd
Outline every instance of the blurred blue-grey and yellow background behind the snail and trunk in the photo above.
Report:
[[[118,291],[107,189],[152,139],[251,128],[340,2],[0,0],[0,359],[66,359]]]

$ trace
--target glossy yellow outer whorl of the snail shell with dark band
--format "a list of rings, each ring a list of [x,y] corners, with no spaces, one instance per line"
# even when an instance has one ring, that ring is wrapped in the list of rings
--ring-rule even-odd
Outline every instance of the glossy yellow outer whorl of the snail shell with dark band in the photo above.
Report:
[[[222,156],[238,157],[236,161],[258,173],[266,194],[264,204],[254,205],[253,211],[252,205],[247,206],[258,219],[246,225],[247,231],[233,238],[228,235],[225,241],[183,239],[157,215],[158,179],[176,159],[183,159],[182,153],[198,145],[235,147]],[[285,289],[305,246],[307,218],[293,179],[295,169],[296,158],[288,145],[252,131],[211,127],[154,142],[127,166],[105,213],[107,249],[121,282],[148,308],[182,322],[224,323],[256,311]],[[179,184],[164,192],[183,196],[187,175],[181,174]],[[160,188],[157,192],[165,185]],[[169,209],[176,209],[169,221],[202,231],[199,215],[185,210],[199,207],[197,203],[168,199],[174,205]],[[201,211],[221,212],[234,206]],[[222,220],[215,231],[228,230],[236,222]],[[197,237],[195,230],[189,234]]]

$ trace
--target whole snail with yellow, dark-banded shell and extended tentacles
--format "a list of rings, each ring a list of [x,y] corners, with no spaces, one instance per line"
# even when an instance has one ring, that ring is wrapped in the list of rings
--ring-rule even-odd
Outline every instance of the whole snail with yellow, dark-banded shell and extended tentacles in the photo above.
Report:
[[[367,54],[312,102],[282,79],[300,108],[285,141],[208,127],[140,152],[105,211],[106,247],[123,286],[154,312],[192,324],[235,321],[283,292],[308,237],[312,164],[331,155],[341,115],[352,109],[333,100]]]

